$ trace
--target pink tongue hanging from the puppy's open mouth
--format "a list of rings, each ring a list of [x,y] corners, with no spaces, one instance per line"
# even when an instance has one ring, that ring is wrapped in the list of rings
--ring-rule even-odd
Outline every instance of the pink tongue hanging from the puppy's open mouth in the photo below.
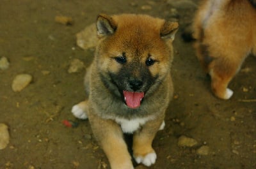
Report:
[[[129,108],[140,107],[140,101],[144,97],[144,92],[128,92],[128,91],[123,91],[123,92],[124,92],[126,105]]]

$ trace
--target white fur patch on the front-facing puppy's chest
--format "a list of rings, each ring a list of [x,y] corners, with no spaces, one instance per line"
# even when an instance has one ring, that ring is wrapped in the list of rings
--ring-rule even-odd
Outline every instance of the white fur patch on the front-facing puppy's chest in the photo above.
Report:
[[[143,126],[147,121],[152,120],[152,117],[145,117],[145,118],[137,118],[137,119],[122,119],[116,118],[115,121],[120,124],[122,131],[124,133],[133,133],[141,126]]]

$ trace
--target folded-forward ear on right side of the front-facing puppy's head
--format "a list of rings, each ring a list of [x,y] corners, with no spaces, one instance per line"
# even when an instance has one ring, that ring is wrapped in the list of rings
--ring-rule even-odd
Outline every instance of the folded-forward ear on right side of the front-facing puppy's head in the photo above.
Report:
[[[175,33],[178,31],[178,29],[179,29],[178,22],[165,21],[163,26],[161,27],[160,36],[163,39],[174,40]]]

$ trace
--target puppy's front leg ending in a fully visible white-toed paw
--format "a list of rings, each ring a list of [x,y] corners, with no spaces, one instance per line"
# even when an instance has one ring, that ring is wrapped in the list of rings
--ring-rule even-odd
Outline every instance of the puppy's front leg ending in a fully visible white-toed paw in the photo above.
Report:
[[[163,122],[163,119],[148,121],[140,131],[134,133],[132,149],[137,163],[150,166],[156,162],[157,156],[152,142]]]

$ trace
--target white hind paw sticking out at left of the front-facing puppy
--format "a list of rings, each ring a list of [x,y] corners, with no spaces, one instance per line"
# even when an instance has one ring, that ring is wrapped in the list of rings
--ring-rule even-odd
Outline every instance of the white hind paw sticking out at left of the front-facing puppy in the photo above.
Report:
[[[72,107],[72,114],[78,119],[87,119],[86,112],[88,111],[88,103],[87,100],[81,101],[77,105]]]

